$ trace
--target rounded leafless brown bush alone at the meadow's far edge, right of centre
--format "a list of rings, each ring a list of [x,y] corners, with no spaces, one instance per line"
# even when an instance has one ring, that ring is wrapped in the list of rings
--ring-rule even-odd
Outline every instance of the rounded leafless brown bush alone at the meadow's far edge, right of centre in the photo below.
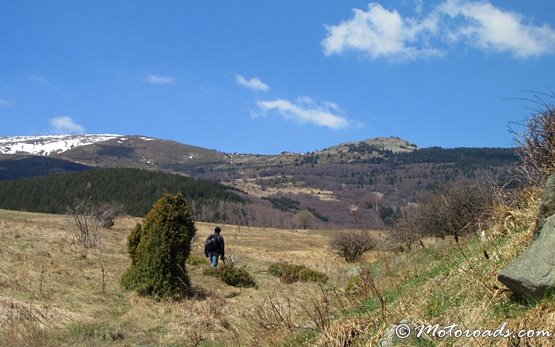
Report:
[[[347,262],[358,260],[375,248],[375,241],[365,230],[341,231],[330,242],[331,247]]]

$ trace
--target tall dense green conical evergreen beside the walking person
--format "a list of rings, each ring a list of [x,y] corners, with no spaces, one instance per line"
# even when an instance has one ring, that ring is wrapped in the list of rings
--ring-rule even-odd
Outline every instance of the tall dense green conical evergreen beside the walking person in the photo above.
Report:
[[[128,238],[131,267],[122,285],[140,295],[179,299],[191,293],[185,262],[196,228],[181,193],[164,194]]]

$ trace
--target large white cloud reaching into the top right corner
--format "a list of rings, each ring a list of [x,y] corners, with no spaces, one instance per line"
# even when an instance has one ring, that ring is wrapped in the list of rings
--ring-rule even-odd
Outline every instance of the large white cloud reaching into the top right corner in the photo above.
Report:
[[[490,51],[509,52],[528,58],[555,50],[555,31],[549,25],[537,26],[523,15],[495,7],[489,2],[448,0],[438,8],[451,18],[463,17],[465,23],[452,29],[455,41],[466,39],[470,45]]]

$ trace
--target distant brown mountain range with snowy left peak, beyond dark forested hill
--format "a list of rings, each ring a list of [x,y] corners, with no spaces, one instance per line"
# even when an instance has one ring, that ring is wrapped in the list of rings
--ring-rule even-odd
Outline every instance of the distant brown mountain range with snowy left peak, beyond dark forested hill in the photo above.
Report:
[[[6,182],[98,168],[179,174],[221,183],[248,202],[242,207],[248,213],[237,212],[237,202],[220,206],[222,222],[277,227],[383,228],[403,206],[445,184],[506,183],[517,162],[511,148],[418,148],[396,137],[278,155],[223,153],[146,136],[0,138]]]

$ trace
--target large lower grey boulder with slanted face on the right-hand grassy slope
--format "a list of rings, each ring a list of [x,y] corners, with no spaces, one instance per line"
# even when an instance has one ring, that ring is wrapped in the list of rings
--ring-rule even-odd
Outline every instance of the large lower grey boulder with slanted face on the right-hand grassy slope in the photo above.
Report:
[[[513,293],[532,300],[555,289],[555,215],[547,218],[536,239],[497,279]]]

